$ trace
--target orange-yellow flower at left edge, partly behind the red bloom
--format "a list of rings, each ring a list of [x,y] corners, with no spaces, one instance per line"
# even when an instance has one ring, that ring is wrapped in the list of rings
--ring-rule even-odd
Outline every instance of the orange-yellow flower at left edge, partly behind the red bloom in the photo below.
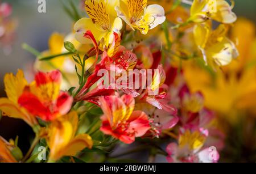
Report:
[[[36,117],[29,114],[26,109],[18,104],[19,96],[22,95],[24,88],[27,86],[27,80],[24,78],[22,70],[18,70],[16,76],[13,74],[6,74],[4,78],[5,91],[7,97],[0,99],[0,109],[4,115],[20,118],[27,122],[28,125],[34,127],[38,124]]]

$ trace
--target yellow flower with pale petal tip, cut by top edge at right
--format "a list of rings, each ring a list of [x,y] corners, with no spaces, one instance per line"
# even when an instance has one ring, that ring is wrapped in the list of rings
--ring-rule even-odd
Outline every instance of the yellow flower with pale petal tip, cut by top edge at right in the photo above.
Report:
[[[194,0],[189,20],[201,23],[213,19],[220,23],[233,23],[237,16],[232,11],[232,6],[225,0]]]

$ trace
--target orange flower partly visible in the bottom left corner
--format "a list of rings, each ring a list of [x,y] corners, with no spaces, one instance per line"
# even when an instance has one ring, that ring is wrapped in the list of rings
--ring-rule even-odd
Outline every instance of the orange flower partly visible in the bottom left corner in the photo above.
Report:
[[[11,154],[12,145],[0,137],[0,163],[16,163],[17,160]]]

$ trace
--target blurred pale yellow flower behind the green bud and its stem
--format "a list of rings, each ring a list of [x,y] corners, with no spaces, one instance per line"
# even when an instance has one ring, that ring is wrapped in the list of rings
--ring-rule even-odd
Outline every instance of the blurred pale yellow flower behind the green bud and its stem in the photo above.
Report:
[[[60,33],[52,33],[49,37],[48,45],[49,50],[46,50],[42,53],[40,57],[52,56],[56,54],[61,54],[67,52],[64,48],[64,41],[70,41],[77,50],[81,53],[86,53],[90,49],[89,45],[82,45],[75,39],[75,34],[70,33],[66,37]],[[39,58],[40,58],[39,57]],[[58,69],[63,74],[63,80],[61,82],[61,89],[67,90],[72,86],[77,86],[77,74],[75,67],[75,61],[73,61],[72,56],[60,56],[53,58],[49,61],[40,61],[39,58],[35,62],[35,70],[49,72],[55,69]],[[90,66],[94,63],[94,58],[89,58],[85,62],[85,70],[88,70]]]

